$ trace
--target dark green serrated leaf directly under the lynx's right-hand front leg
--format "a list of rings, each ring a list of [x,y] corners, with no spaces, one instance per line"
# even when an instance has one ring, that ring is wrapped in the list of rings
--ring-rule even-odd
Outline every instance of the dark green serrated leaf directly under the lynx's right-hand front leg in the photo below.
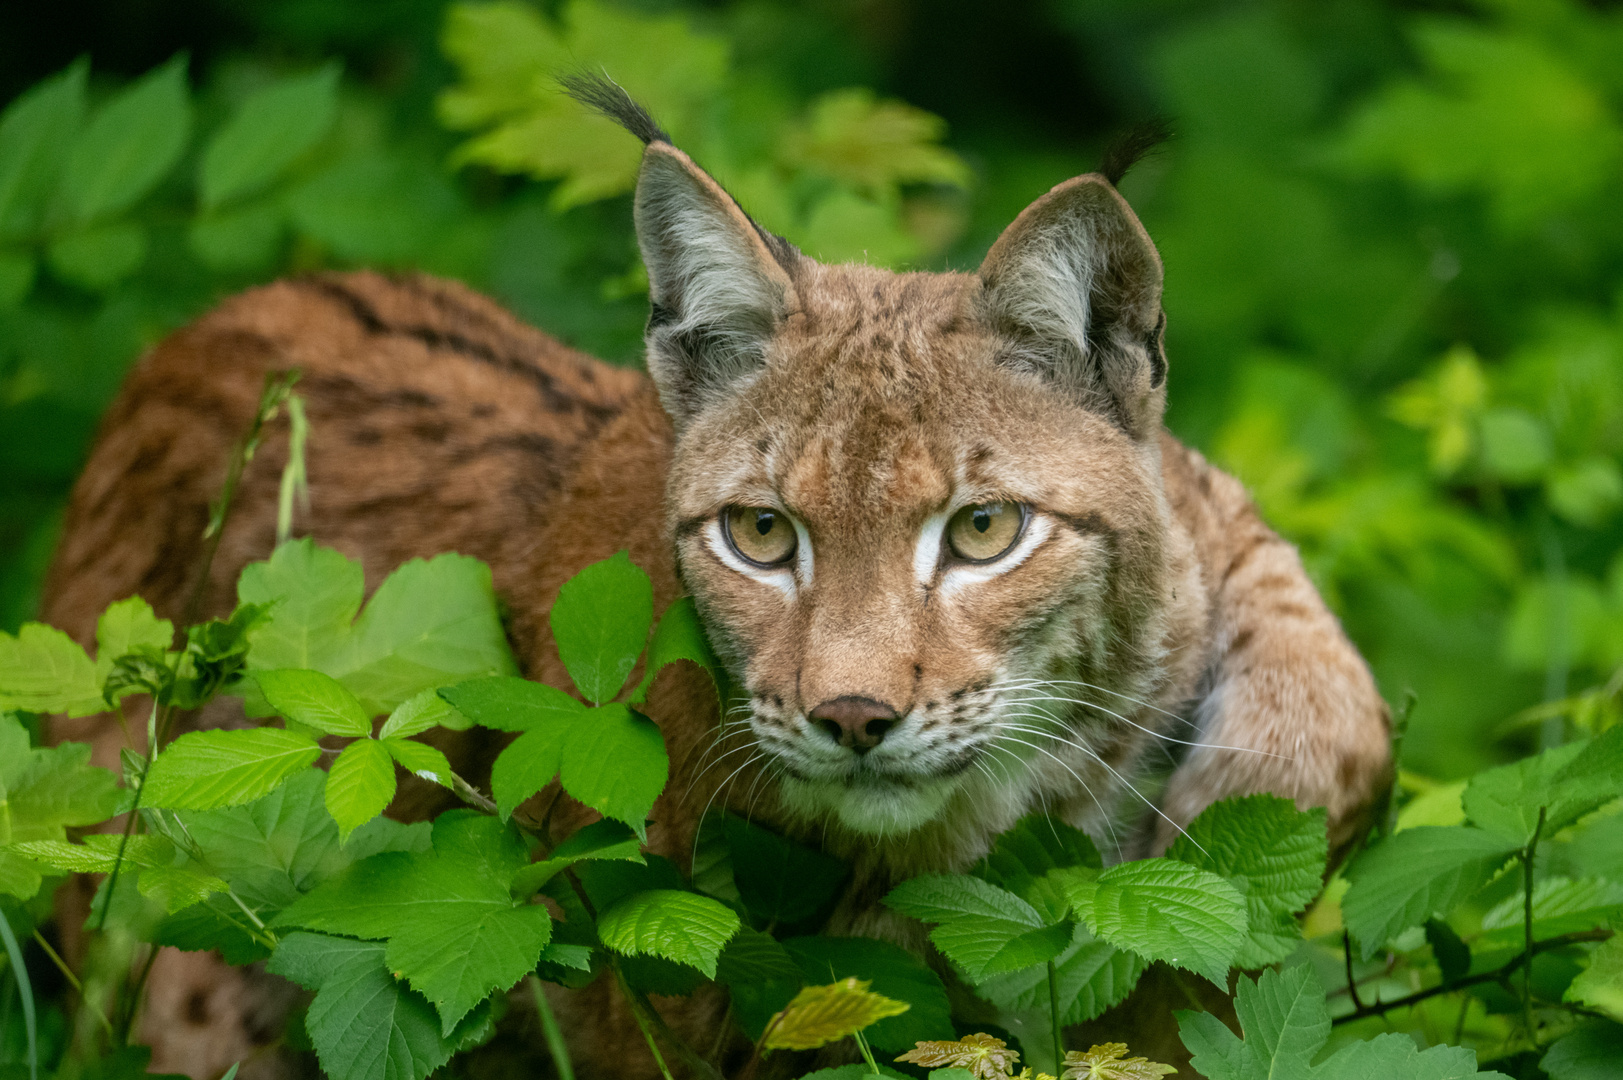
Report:
[[[1268,794],[1224,799],[1203,810],[1167,854],[1224,877],[1245,896],[1250,931],[1235,966],[1279,963],[1302,940],[1295,913],[1324,880],[1324,810],[1302,812]]]

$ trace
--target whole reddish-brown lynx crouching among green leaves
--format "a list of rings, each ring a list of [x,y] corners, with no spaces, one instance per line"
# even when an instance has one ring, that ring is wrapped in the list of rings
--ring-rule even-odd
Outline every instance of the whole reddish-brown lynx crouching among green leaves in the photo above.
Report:
[[[1032,203],[974,273],[831,266],[760,229],[618,88],[575,91],[646,146],[646,375],[424,276],[229,299],[128,377],[45,619],[88,643],[131,593],[175,617],[265,374],[300,369],[312,534],[372,586],[417,555],[487,560],[529,677],[568,685],[545,616],[583,565],[628,549],[656,604],[693,594],[737,703],[719,713],[696,671],[661,677],[648,711],[672,781],[651,845],[685,862],[708,806],[818,843],[854,867],[831,932],[923,950],[880,898],[967,869],[1039,809],[1110,858],[1258,791],[1326,807],[1332,849],[1358,835],[1388,778],[1386,706],[1292,546],[1162,427],[1162,265],[1120,162]],[[281,458],[273,442],[245,474],[204,614],[273,546]],[[109,716],[54,734],[107,765],[123,737]],[[476,781],[500,749],[438,741]],[[406,786],[391,812],[443,799]],[[558,835],[589,819],[566,802]],[[289,994],[166,950],[153,1069],[284,1072],[255,1049]],[[557,1007],[583,1077],[654,1075],[602,984]],[[721,1023],[716,1000],[667,1009],[678,1030]],[[1134,1038],[1133,1015],[1105,1018],[1112,1038]]]

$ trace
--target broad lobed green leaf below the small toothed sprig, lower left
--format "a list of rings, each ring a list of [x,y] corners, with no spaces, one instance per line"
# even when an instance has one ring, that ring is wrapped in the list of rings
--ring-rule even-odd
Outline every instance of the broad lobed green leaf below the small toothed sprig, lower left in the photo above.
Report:
[[[469,1010],[518,983],[552,935],[540,905],[506,882],[524,845],[495,819],[446,814],[433,853],[364,859],[282,911],[276,926],[388,939],[388,965],[440,1010],[450,1035]]]

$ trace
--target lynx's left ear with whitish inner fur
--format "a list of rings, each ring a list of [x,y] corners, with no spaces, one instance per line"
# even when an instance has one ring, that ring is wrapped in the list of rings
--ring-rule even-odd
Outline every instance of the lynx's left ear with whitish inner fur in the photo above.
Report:
[[[799,307],[786,271],[797,253],[665,141],[643,153],[636,237],[652,300],[648,370],[680,429],[760,370],[766,341]]]

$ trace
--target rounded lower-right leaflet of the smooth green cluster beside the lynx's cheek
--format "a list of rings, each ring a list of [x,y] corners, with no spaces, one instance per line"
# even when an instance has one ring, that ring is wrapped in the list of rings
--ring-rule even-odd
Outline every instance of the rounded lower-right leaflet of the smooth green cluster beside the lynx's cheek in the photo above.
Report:
[[[558,768],[563,789],[638,836],[648,835],[648,812],[669,776],[659,728],[625,705],[588,710],[566,732]]]

